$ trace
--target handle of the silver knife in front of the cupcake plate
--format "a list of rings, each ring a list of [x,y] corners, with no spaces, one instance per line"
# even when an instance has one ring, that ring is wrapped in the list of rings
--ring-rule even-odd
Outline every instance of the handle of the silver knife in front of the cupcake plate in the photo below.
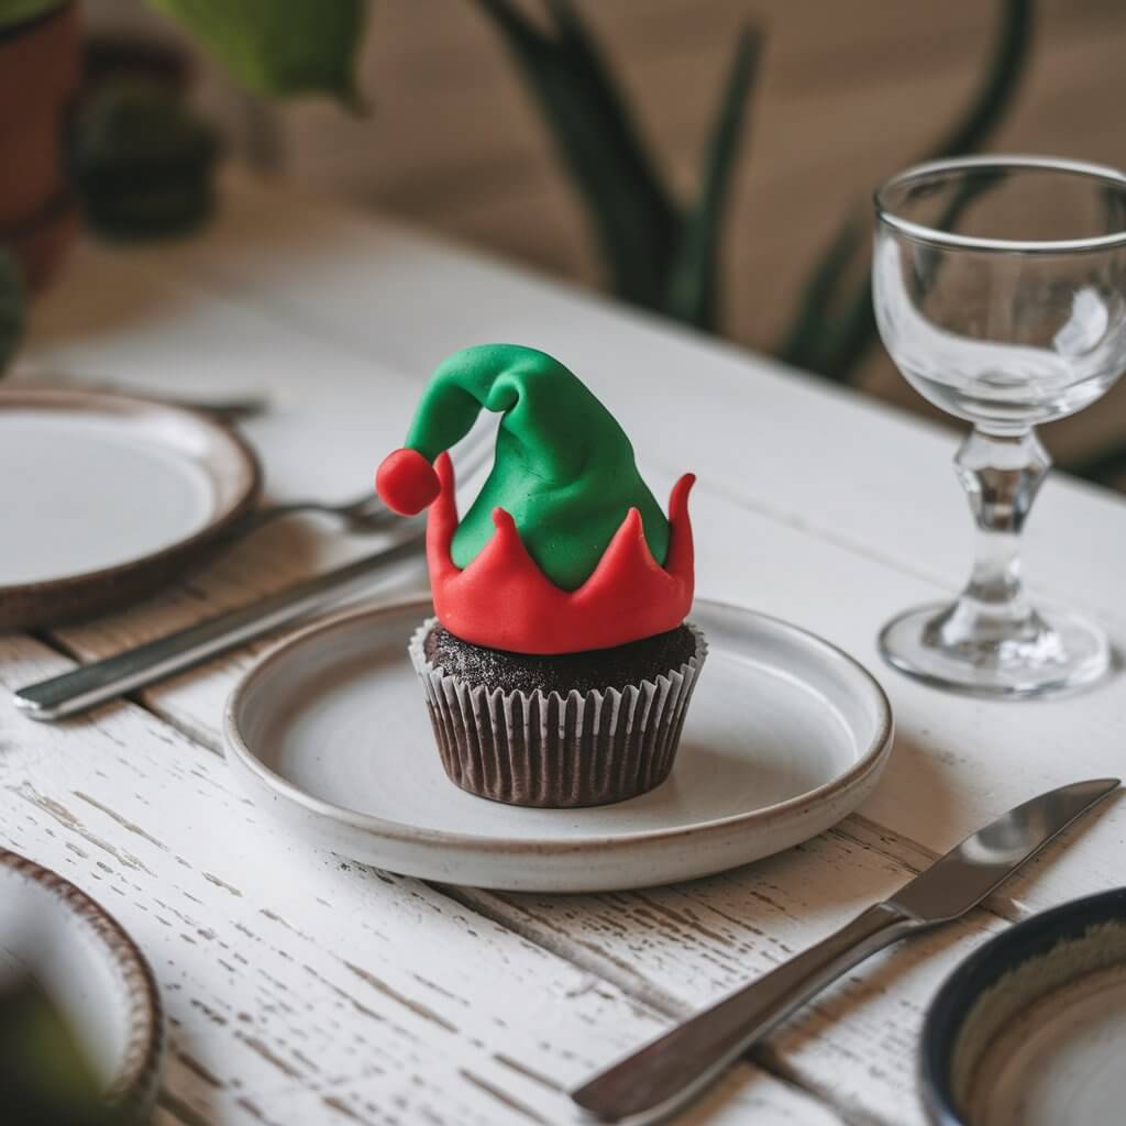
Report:
[[[922,926],[877,903],[835,933],[651,1040],[571,1092],[599,1121],[643,1126],[682,1107],[847,969]]]

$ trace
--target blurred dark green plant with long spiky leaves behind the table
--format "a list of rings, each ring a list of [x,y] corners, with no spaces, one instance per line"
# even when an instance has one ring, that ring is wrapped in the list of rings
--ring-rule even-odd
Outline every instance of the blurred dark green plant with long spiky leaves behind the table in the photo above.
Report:
[[[512,0],[477,0],[504,38],[590,214],[613,291],[626,301],[715,330],[718,236],[760,50],[739,38],[712,126],[697,200],[664,184],[609,65],[571,0],[544,0],[540,27]],[[1001,28],[977,95],[930,158],[980,149],[1019,86],[1034,0],[1001,0]],[[789,363],[843,382],[875,339],[866,270],[869,220],[858,211],[813,270],[778,349]],[[859,280],[858,275],[863,275]],[[854,288],[843,293],[846,285]]]

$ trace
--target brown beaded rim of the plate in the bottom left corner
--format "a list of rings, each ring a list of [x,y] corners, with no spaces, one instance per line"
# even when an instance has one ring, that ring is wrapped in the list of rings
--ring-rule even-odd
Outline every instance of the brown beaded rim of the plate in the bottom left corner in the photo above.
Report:
[[[102,1089],[113,1107],[146,1110],[157,1094],[164,1052],[164,1010],[148,958],[128,931],[65,876],[0,846],[0,868],[43,887],[109,956],[128,995],[128,1042],[117,1071]]]

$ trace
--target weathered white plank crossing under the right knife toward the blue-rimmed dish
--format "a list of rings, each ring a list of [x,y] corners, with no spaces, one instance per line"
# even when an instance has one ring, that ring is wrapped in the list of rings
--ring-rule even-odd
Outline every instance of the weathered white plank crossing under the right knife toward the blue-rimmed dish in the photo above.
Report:
[[[1120,837],[1121,817],[1118,822]],[[1054,874],[1060,894],[1060,863],[1069,849],[1080,851],[1080,841],[1089,857],[1091,831],[1084,825],[1071,832],[1031,873],[991,900],[989,911],[858,967],[784,1025],[754,1057],[808,1090],[832,1092],[850,1119],[922,1124],[915,1072],[931,998],[981,941],[1054,902],[1040,877]],[[915,864],[905,863],[912,857]],[[929,857],[919,856],[911,842],[850,817],[781,856],[691,884],[568,899],[455,894],[644,1003],[683,1016],[829,933],[927,863]],[[1099,886],[1091,881],[1066,894],[1089,891],[1091,884]]]

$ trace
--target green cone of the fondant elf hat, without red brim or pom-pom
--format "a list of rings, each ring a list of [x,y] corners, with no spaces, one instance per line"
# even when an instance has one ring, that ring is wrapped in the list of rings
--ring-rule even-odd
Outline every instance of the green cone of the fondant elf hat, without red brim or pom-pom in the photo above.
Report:
[[[444,360],[414,414],[406,448],[434,459],[465,437],[480,411],[500,412],[489,480],[457,528],[465,568],[493,535],[492,512],[516,521],[528,553],[556,586],[581,587],[631,508],[663,564],[669,525],[642,481],[622,427],[558,360],[518,345],[481,345]]]

